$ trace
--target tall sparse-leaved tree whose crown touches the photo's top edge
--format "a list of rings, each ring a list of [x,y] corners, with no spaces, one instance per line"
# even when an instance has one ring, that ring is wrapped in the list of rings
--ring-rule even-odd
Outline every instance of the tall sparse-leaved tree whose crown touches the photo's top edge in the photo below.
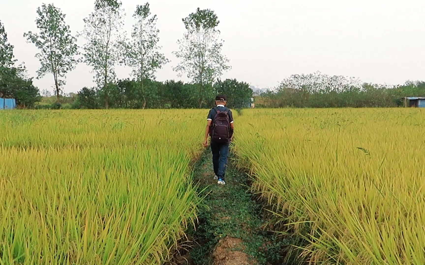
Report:
[[[119,62],[122,43],[122,3],[116,0],[96,0],[94,11],[84,19],[82,36],[85,62],[93,68],[99,89],[105,90],[105,107],[108,108],[108,83],[115,80],[115,64]]]

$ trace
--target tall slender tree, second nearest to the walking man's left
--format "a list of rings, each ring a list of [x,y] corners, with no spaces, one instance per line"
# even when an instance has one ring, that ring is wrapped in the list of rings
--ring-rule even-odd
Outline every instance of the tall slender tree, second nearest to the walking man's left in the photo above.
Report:
[[[144,109],[147,94],[144,79],[155,79],[155,72],[168,62],[160,53],[159,30],[156,28],[156,15],[150,12],[149,3],[137,5],[133,14],[136,23],[133,25],[131,41],[125,47],[125,64],[133,68],[133,75],[140,86]]]

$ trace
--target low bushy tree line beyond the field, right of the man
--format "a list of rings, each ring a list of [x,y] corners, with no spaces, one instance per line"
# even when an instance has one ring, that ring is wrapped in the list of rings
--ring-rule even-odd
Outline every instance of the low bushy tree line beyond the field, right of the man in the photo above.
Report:
[[[424,81],[385,86],[320,72],[291,75],[273,90],[262,92],[257,107],[339,108],[399,107],[403,97],[425,96]]]

